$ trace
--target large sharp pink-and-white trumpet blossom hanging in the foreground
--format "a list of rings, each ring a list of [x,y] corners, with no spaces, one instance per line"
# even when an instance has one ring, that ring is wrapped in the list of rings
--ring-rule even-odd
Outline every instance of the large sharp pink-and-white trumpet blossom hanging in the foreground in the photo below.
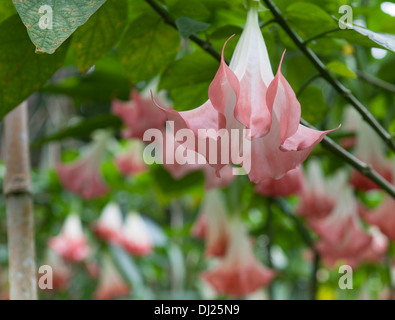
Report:
[[[217,174],[225,164],[234,163],[241,164],[255,183],[279,179],[300,165],[330,131],[299,124],[300,104],[281,74],[281,62],[273,75],[256,9],[248,12],[229,67],[223,51],[206,103],[184,112],[161,109],[174,122],[176,131],[187,128],[194,133],[195,141],[186,143],[187,147],[203,154]],[[202,129],[206,132],[199,134]],[[221,146],[224,136],[231,139]],[[199,148],[201,144],[208,147]],[[210,161],[221,147],[231,152],[221,152],[221,159]]]

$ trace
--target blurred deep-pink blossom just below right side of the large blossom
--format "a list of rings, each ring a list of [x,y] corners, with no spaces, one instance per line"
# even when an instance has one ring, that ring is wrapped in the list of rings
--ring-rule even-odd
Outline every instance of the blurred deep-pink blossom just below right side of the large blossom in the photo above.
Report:
[[[303,192],[302,168],[288,171],[280,179],[265,179],[255,187],[255,192],[268,197],[287,197]]]

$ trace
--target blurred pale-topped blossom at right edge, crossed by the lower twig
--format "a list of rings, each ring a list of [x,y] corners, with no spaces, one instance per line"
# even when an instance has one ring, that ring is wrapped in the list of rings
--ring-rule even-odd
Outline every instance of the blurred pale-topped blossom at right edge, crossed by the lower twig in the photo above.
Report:
[[[372,166],[383,178],[389,182],[394,181],[393,165],[386,159],[383,142],[376,132],[362,120],[361,116],[354,111],[355,119],[358,119],[356,135],[355,156]],[[362,175],[355,169],[352,171],[351,184],[358,190],[380,189],[373,181]]]

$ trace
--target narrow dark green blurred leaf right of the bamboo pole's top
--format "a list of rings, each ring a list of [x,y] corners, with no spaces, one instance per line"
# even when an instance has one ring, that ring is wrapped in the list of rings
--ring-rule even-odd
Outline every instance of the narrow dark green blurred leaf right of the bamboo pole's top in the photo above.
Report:
[[[45,143],[51,141],[59,141],[67,138],[88,138],[97,129],[114,128],[119,129],[122,127],[122,121],[112,115],[104,114],[93,118],[82,120],[74,126],[62,129],[54,134],[41,138],[32,143],[32,147],[40,147]]]

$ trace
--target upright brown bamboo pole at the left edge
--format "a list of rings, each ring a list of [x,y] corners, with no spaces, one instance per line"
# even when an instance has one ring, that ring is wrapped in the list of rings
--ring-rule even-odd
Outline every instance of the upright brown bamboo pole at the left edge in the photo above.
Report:
[[[4,196],[11,300],[37,299],[27,103],[4,118]]]

